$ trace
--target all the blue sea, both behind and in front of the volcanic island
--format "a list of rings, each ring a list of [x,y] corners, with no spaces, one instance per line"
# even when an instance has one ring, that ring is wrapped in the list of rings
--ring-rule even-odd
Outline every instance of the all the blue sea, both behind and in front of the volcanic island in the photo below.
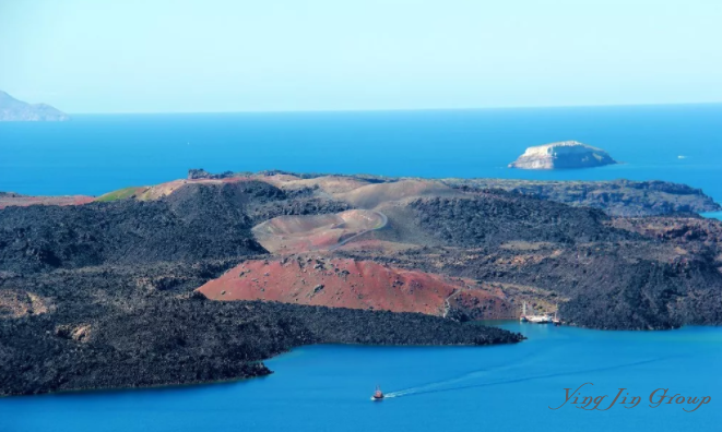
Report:
[[[525,147],[577,140],[622,165],[507,168]],[[722,202],[722,105],[461,111],[74,116],[0,123],[0,191],[98,195],[210,171],[559,180],[667,180]],[[720,215],[709,215],[719,217]],[[311,346],[271,376],[162,389],[0,399],[0,432],[713,431],[722,423],[722,329],[600,332],[506,323],[529,340],[482,348]],[[641,403],[565,400],[619,388]],[[392,396],[369,401],[376,384]],[[650,394],[710,396],[651,408]],[[659,395],[659,393],[658,393]]]

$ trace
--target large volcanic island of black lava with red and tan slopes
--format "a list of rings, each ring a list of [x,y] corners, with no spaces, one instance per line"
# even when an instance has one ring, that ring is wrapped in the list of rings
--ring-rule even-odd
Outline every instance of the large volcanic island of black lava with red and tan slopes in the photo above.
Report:
[[[309,344],[523,340],[478,320],[722,324],[720,206],[661,181],[209,173],[0,193],[0,396],[265,375]]]

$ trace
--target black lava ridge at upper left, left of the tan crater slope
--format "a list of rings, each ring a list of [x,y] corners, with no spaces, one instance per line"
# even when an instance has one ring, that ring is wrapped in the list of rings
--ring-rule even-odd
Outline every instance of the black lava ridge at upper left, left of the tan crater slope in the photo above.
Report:
[[[244,203],[273,192],[261,182],[191,184],[152,202],[8,207],[0,212],[0,269],[192,262],[265,252],[250,233]]]

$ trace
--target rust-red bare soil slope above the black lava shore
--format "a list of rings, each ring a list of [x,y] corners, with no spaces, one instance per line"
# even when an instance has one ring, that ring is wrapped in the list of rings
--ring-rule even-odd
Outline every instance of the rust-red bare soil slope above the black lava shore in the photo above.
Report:
[[[443,315],[446,300],[466,292],[461,279],[388,267],[371,261],[296,256],[280,261],[248,261],[198,288],[212,300],[270,300],[333,308],[375,309]],[[506,301],[474,290],[475,317],[486,317]],[[490,317],[490,316],[489,316]]]

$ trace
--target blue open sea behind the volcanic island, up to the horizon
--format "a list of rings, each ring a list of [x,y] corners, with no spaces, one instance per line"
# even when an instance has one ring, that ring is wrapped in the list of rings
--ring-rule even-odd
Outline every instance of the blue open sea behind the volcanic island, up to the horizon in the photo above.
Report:
[[[466,111],[74,116],[0,123],[0,191],[97,195],[210,171],[667,180],[722,201],[722,105]],[[577,140],[623,165],[525,171],[528,146]],[[679,157],[683,158],[679,158]]]

